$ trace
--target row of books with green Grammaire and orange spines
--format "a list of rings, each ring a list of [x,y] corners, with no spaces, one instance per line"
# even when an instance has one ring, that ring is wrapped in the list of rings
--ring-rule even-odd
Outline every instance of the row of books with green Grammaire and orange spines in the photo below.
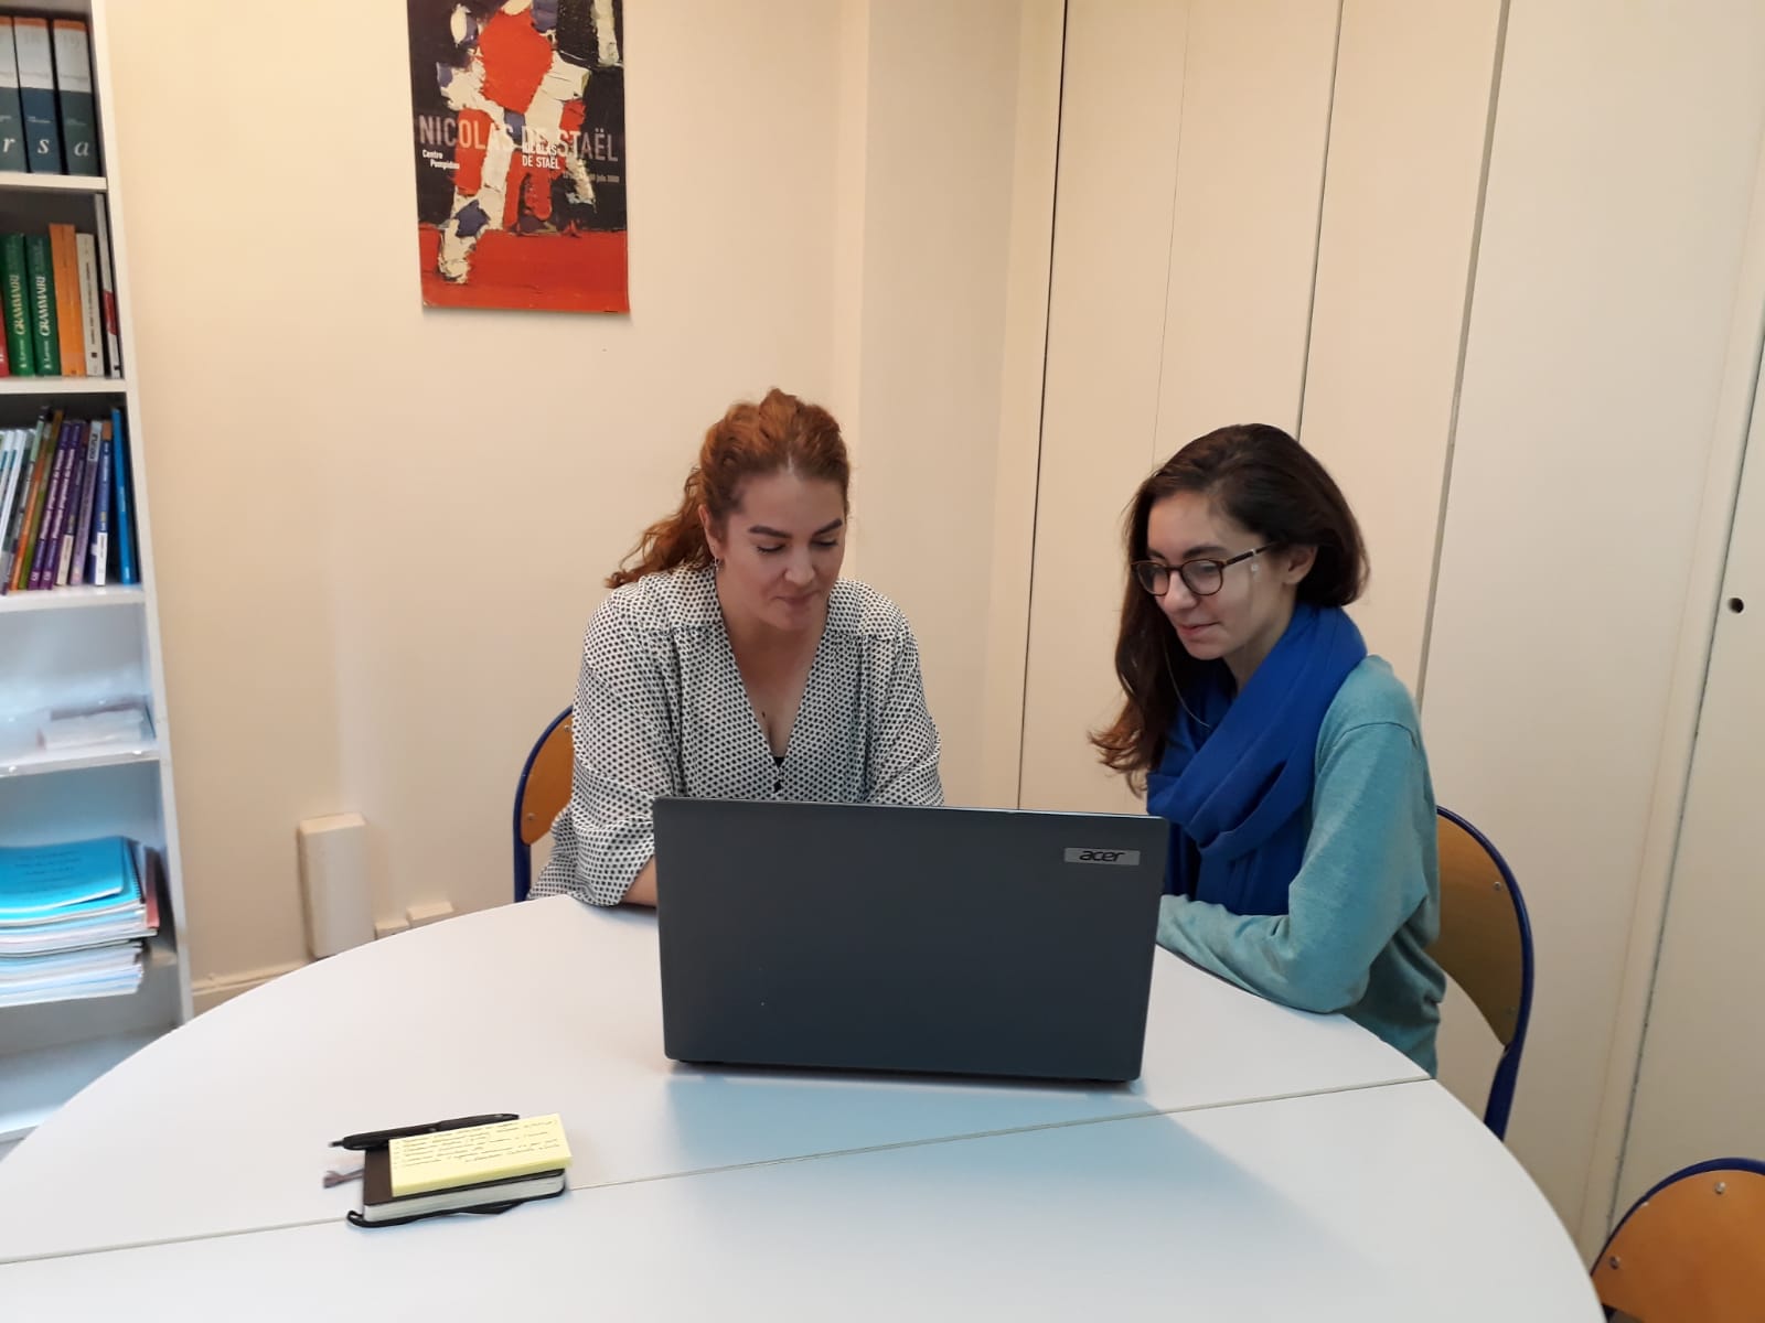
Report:
[[[122,376],[102,206],[94,235],[64,224],[0,235],[0,376]]]

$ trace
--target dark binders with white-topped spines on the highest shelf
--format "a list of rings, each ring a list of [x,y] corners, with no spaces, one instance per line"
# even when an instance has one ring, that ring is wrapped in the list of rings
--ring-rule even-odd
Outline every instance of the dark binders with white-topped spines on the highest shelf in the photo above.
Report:
[[[0,14],[0,171],[99,175],[92,39],[74,18]]]

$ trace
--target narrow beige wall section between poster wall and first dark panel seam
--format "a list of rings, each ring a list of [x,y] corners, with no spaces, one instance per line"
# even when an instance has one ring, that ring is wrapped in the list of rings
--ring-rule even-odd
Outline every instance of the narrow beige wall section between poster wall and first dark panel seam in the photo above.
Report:
[[[1034,471],[1061,5],[886,0],[868,34],[858,575],[920,635],[950,803],[1015,803],[988,700],[1018,688],[1029,506],[995,490]]]

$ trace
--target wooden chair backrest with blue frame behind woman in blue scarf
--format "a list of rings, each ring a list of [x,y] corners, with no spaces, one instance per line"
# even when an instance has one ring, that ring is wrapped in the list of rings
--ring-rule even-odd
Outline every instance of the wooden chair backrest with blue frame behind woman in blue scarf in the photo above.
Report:
[[[1458,813],[1440,810],[1440,937],[1430,954],[1495,1030],[1502,1060],[1483,1122],[1507,1132],[1532,1018],[1532,924],[1507,861]]]

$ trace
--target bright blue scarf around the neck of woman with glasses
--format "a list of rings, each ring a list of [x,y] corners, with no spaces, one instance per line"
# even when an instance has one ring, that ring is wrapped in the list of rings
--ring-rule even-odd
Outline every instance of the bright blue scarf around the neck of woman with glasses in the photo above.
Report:
[[[1237,697],[1223,662],[1200,669],[1145,778],[1147,811],[1174,824],[1165,891],[1234,914],[1287,914],[1311,831],[1318,727],[1364,656],[1347,612],[1299,603]]]

